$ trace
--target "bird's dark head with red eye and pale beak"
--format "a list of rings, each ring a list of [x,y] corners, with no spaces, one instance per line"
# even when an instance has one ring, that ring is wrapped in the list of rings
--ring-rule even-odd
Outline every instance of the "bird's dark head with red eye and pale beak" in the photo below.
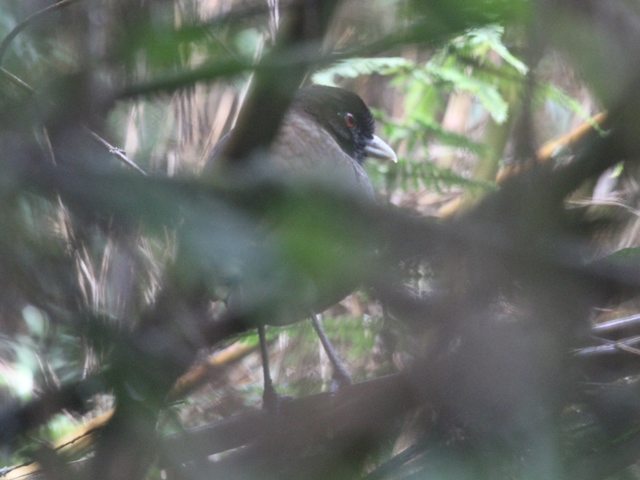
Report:
[[[366,157],[397,162],[393,149],[374,134],[373,115],[355,93],[311,85],[298,90],[293,103],[294,107],[315,117],[358,163],[362,164]]]

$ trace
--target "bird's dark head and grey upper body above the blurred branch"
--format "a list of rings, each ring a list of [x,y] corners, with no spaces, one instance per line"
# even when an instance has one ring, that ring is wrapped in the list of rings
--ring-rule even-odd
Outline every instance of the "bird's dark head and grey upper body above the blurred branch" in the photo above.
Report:
[[[214,147],[203,169],[208,177],[274,176],[289,181],[332,184],[365,198],[374,189],[363,163],[366,158],[397,162],[393,149],[374,133],[373,115],[355,93],[324,85],[300,88],[293,96],[266,155],[255,155],[234,171],[221,153],[234,131]],[[264,152],[261,152],[264,153]]]

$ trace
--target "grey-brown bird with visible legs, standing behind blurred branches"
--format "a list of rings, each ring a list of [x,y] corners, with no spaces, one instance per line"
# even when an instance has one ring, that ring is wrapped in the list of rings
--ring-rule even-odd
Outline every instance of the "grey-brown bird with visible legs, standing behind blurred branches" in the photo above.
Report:
[[[373,115],[357,94],[339,87],[309,85],[294,93],[266,151],[256,152],[247,162],[227,161],[223,152],[234,134],[234,130],[231,130],[211,151],[203,175],[206,178],[229,181],[276,178],[290,185],[321,184],[363,201],[375,201],[375,190],[364,170],[364,161],[366,158],[374,158],[397,162],[397,156],[386,142],[375,135],[374,130]],[[277,230],[277,226],[274,230]],[[324,334],[317,313],[338,303],[350,293],[350,290],[338,290],[328,298],[314,298],[308,306],[308,316],[311,317],[314,329],[333,364],[334,379],[337,379],[338,384],[348,383],[350,379]],[[242,294],[235,295],[235,298],[241,297]],[[265,323],[283,325],[302,320],[306,316],[298,317],[300,316],[281,315]],[[273,399],[277,395],[269,374],[264,324],[258,325],[258,333],[264,368],[263,399],[268,407],[275,403]]]

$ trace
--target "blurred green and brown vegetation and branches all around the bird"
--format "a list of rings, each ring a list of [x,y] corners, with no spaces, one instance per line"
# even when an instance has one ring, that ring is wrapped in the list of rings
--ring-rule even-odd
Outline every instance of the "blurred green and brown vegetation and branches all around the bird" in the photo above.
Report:
[[[638,478],[639,9],[2,2],[0,478]],[[380,205],[198,177],[287,81],[372,108]],[[267,330],[291,416],[193,301],[238,256],[282,268],[249,253],[265,212],[380,253],[323,314],[345,392],[309,322]]]

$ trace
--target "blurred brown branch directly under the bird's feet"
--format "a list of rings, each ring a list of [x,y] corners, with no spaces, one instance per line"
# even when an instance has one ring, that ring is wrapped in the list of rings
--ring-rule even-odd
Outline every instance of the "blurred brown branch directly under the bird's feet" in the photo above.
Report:
[[[267,451],[285,461],[293,451],[320,448],[323,443],[339,445],[345,437],[381,441],[387,438],[382,432],[423,401],[412,379],[402,374],[347,385],[336,394],[284,402],[277,418],[261,410],[168,437],[162,441],[161,466],[198,461],[249,445],[249,451],[232,456],[227,463],[236,464],[241,457],[248,462],[243,468],[251,469],[265,460]]]

